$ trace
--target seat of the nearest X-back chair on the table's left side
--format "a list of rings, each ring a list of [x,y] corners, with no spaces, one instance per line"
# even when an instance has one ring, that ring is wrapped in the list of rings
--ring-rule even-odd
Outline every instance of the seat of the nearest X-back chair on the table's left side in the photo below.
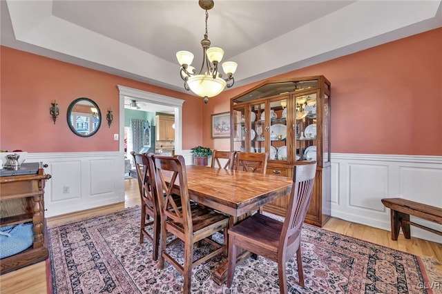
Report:
[[[222,226],[224,222],[229,222],[229,216],[217,213],[215,210],[198,204],[191,206],[191,213],[193,233],[197,233],[202,229],[207,230],[211,226]],[[184,226],[182,223],[173,222],[172,219],[168,219],[168,223],[184,234]]]

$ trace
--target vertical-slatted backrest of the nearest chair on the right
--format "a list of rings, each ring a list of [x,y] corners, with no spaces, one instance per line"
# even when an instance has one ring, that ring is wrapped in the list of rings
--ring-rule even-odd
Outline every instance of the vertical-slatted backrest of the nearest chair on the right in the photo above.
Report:
[[[284,244],[287,248],[300,235],[313,193],[315,175],[316,161],[311,164],[295,166],[289,205],[287,206],[287,214],[280,238],[280,244]]]

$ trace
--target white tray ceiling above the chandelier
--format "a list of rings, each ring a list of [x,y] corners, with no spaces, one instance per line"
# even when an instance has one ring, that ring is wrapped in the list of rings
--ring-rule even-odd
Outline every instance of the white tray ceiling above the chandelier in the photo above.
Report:
[[[441,1],[215,0],[209,39],[248,84],[442,26]],[[184,90],[178,50],[201,62],[198,1],[1,1],[1,44]],[[191,92],[188,92],[191,94]]]

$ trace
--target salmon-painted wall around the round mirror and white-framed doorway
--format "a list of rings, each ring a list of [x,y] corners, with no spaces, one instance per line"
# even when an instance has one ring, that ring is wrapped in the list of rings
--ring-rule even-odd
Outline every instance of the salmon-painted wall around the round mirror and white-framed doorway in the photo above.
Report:
[[[202,99],[140,81],[117,77],[70,63],[1,46],[0,149],[32,153],[119,150],[113,134],[119,133],[117,85],[184,99],[182,109],[183,149],[202,143]],[[146,65],[148,66],[148,65]],[[102,114],[111,107],[114,122],[106,117],[97,134],[79,137],[69,128],[70,102],[88,97]],[[49,115],[50,102],[57,99],[60,115],[56,124]]]

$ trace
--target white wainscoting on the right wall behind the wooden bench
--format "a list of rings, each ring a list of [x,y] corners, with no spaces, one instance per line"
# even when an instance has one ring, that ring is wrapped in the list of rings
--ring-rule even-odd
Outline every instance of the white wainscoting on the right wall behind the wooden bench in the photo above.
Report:
[[[332,153],[332,216],[390,231],[383,198],[402,197],[442,207],[442,157]],[[437,231],[442,226],[410,217]],[[412,226],[411,235],[442,243],[439,235]],[[369,241],[369,240],[367,240]]]

